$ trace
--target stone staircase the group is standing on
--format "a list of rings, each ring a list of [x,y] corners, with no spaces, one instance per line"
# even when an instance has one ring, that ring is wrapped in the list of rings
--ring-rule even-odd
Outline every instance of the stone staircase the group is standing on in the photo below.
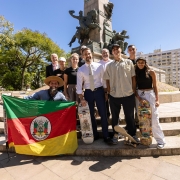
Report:
[[[0,114],[2,110],[0,110]],[[150,147],[138,145],[136,148],[124,145],[124,140],[119,139],[117,145],[108,146],[102,139],[102,131],[100,127],[100,119],[97,119],[98,132],[100,139],[92,144],[84,144],[81,139],[81,132],[77,131],[78,149],[74,155],[78,156],[162,156],[162,155],[180,155],[180,102],[162,104],[159,109],[160,124],[165,134],[166,146],[164,149],[157,149],[156,142]],[[125,126],[123,113],[120,114],[120,126]],[[78,122],[79,123],[79,122]],[[109,132],[112,132],[109,126]],[[139,130],[137,131],[139,135]],[[0,118],[0,151],[6,151],[4,137],[3,118]],[[11,148],[10,152],[14,152]]]

